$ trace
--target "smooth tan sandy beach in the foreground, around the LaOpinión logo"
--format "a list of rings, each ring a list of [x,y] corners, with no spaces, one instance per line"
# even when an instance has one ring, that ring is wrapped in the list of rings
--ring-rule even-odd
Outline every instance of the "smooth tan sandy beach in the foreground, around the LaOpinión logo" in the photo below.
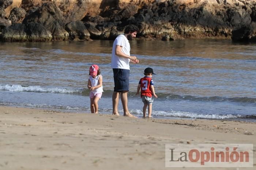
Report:
[[[160,170],[167,143],[252,143],[256,123],[142,119],[0,106],[0,169]],[[254,167],[239,168],[255,169]],[[234,169],[237,168],[204,168]]]

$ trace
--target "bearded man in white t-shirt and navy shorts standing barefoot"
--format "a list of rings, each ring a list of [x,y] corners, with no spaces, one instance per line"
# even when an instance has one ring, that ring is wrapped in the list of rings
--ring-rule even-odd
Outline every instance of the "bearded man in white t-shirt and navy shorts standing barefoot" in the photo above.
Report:
[[[130,56],[130,43],[129,40],[136,37],[139,28],[135,25],[128,25],[124,34],[116,37],[112,48],[111,67],[114,74],[114,92],[112,95],[113,112],[112,115],[118,114],[119,96],[124,109],[124,116],[136,117],[129,113],[128,110],[128,91],[129,91],[129,62],[139,63],[136,56]]]

